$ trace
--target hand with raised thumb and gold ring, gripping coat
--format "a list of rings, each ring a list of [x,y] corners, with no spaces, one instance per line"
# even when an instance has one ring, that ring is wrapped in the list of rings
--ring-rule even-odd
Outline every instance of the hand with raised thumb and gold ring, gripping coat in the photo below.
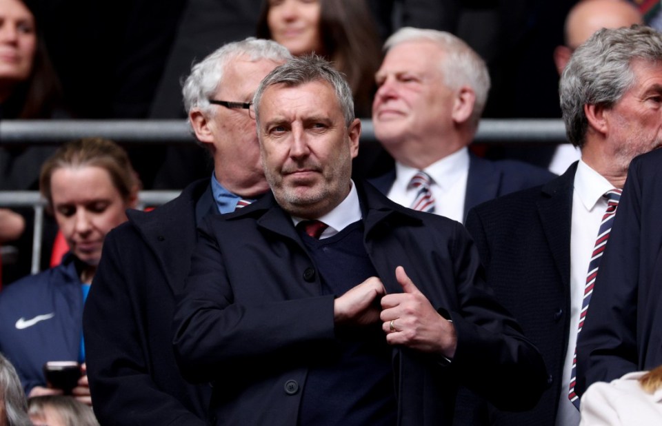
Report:
[[[432,307],[405,273],[405,268],[397,267],[395,277],[404,292],[381,298],[380,318],[386,341],[390,345],[403,345],[453,358],[457,347],[453,324]]]

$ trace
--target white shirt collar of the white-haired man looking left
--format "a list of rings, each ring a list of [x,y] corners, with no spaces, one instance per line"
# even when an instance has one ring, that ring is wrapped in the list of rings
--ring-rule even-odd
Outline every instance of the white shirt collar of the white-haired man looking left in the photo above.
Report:
[[[430,164],[428,167],[423,169],[423,172],[427,173],[434,183],[439,185],[442,190],[447,190],[448,187],[451,187],[457,179],[460,179],[463,176],[463,172],[469,169],[469,150],[468,148],[462,148],[457,152],[443,157],[441,160],[437,160],[434,163]],[[408,165],[402,163],[395,163],[395,173],[397,176],[394,185],[403,185],[403,190],[407,190],[414,174],[417,174],[419,169],[412,168]]]

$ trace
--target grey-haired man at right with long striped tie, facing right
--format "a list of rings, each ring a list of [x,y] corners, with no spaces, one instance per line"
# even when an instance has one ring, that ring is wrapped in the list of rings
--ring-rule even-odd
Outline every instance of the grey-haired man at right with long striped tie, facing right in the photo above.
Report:
[[[535,409],[492,411],[490,424],[579,423],[576,336],[628,165],[662,144],[661,88],[661,34],[642,26],[599,30],[575,50],[561,75],[563,120],[581,159],[546,185],[469,212],[467,229],[488,283],[541,350],[551,373]]]

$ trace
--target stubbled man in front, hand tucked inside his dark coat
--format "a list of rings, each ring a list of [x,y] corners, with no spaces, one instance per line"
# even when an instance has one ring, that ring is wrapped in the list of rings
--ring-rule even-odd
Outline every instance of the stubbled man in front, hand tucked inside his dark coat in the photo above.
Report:
[[[462,225],[351,179],[361,122],[339,72],[292,59],[254,105],[272,194],[205,220],[174,318],[212,424],[450,425],[459,383],[533,405],[545,367]]]

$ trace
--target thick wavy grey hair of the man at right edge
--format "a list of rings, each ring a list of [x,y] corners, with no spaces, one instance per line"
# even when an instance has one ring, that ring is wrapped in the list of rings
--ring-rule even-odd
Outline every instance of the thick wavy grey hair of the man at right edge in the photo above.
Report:
[[[652,28],[597,31],[577,48],[559,82],[568,140],[582,148],[588,130],[584,105],[611,108],[634,83],[633,61],[662,64],[662,34]]]

